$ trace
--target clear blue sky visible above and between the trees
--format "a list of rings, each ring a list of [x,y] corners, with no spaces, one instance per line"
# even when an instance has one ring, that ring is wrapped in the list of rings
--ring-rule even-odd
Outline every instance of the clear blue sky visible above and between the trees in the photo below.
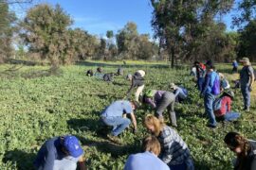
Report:
[[[150,0],[38,0],[51,5],[57,3],[74,19],[72,27],[81,27],[90,34],[104,36],[107,30],[118,32],[127,22],[135,22],[139,33],[153,35]],[[222,20],[231,30],[232,10]]]

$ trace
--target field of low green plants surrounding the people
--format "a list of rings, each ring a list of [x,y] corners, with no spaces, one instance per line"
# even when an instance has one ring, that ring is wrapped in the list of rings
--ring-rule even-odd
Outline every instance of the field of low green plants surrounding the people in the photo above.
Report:
[[[130,82],[124,76],[115,77],[113,83],[85,76],[88,69],[96,70],[100,64],[79,63],[61,67],[54,76],[48,76],[47,66],[0,65],[0,169],[33,169],[38,149],[46,139],[64,134],[76,135],[82,142],[89,169],[122,169],[129,154],[139,152],[141,139],[147,134],[142,119],[151,110],[136,112],[138,132],[126,130],[121,134],[121,145],[113,144],[101,136],[99,115],[105,106],[125,97]],[[116,72],[119,64],[102,63],[105,73]],[[217,66],[229,80],[228,65]],[[218,127],[206,127],[203,99],[194,88],[190,70],[173,70],[164,64],[129,64],[125,75],[144,69],[146,87],[168,90],[168,83],[182,84],[189,89],[185,104],[175,106],[178,115],[176,130],[189,145],[195,169],[231,169],[234,154],[223,143],[230,130],[256,139],[256,100],[252,100],[250,112],[243,108],[242,95],[236,92],[232,110],[242,113],[235,123],[219,123]],[[256,86],[254,86],[254,93]],[[169,124],[169,122],[167,123]]]

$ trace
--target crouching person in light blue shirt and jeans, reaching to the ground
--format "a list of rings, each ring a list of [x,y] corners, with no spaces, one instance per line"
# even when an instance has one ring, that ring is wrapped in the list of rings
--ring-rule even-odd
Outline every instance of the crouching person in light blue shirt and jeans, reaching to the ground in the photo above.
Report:
[[[101,112],[101,121],[107,125],[112,126],[112,133],[108,135],[111,140],[116,141],[118,136],[126,127],[129,127],[131,121],[126,118],[126,114],[130,114],[134,125],[134,132],[137,132],[137,121],[134,110],[137,109],[137,103],[127,100],[118,100]]]

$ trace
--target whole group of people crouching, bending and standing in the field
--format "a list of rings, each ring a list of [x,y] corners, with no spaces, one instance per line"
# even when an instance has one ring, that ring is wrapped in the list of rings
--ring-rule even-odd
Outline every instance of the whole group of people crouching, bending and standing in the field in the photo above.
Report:
[[[247,58],[241,60],[244,67],[240,72],[241,91],[244,96],[244,110],[249,110],[249,92],[254,81],[253,69]],[[101,74],[101,70],[97,71]],[[118,71],[119,72],[119,71]],[[123,75],[123,71],[122,74]],[[130,124],[133,132],[137,133],[137,118],[135,110],[142,104],[151,106],[155,115],[148,114],[144,117],[143,125],[149,135],[143,139],[142,153],[132,154],[125,163],[125,170],[193,170],[192,155],[188,145],[182,140],[174,127],[177,127],[174,111],[175,102],[183,102],[189,96],[188,90],[183,86],[170,84],[170,91],[145,88],[145,75],[143,70],[137,70],[134,75],[127,75],[131,87],[127,96],[135,89],[134,100],[118,100],[112,102],[101,111],[101,123],[113,127],[107,137],[119,143],[121,134]],[[93,74],[92,76],[97,76]],[[216,118],[222,121],[236,120],[240,113],[231,110],[234,93],[229,90],[227,78],[216,72],[211,61],[203,64],[194,62],[192,76],[200,96],[204,97],[205,112],[209,116],[209,127],[216,127]],[[219,97],[217,97],[219,95]],[[165,124],[164,110],[168,110],[171,126]],[[224,142],[230,150],[237,154],[234,167],[237,170],[256,168],[256,142],[247,140],[236,132],[229,132]],[[82,146],[75,136],[55,137],[47,140],[41,147],[34,161],[37,169],[76,169],[79,162],[80,169],[86,169],[82,158]]]

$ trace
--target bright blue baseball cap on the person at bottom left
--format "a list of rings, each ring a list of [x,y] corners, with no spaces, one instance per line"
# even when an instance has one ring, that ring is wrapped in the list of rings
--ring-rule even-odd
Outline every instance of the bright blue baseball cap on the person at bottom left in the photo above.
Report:
[[[82,156],[82,146],[79,144],[79,140],[75,136],[64,136],[64,148],[68,151],[69,155],[74,158]]]

